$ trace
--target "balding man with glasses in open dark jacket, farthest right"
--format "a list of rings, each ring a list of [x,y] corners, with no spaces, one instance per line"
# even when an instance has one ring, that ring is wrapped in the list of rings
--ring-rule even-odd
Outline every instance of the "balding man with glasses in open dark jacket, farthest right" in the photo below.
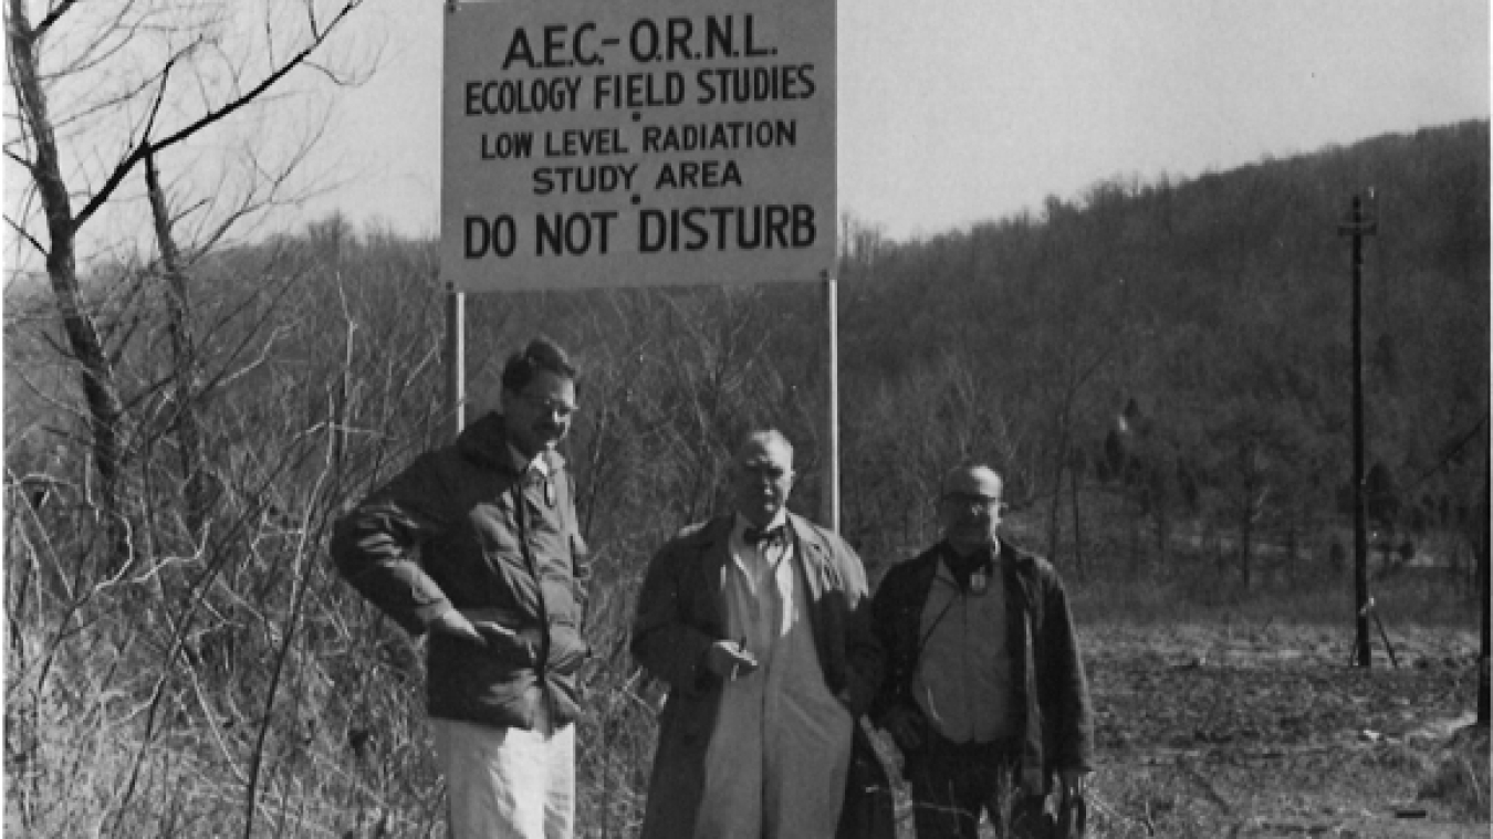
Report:
[[[1047,561],[997,536],[1002,481],[942,484],[944,540],[887,572],[872,603],[887,651],[873,715],[903,755],[918,839],[1035,832],[1050,779],[1076,800],[1093,721],[1067,594]]]

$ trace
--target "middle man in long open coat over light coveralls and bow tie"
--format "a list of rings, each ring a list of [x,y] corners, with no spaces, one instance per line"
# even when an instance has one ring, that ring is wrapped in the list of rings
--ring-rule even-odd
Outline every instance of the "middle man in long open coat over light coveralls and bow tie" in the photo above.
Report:
[[[791,488],[793,446],[754,431],[732,464],[735,511],[648,567],[632,651],[670,690],[642,839],[836,835],[881,655],[858,557],[787,511]]]

